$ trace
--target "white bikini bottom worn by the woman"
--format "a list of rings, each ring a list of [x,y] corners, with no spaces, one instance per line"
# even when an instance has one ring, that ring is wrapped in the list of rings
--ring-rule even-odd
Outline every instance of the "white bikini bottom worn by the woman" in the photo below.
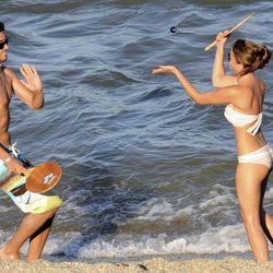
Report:
[[[239,163],[256,163],[265,165],[269,169],[272,166],[273,149],[266,144],[249,154],[238,156]]]

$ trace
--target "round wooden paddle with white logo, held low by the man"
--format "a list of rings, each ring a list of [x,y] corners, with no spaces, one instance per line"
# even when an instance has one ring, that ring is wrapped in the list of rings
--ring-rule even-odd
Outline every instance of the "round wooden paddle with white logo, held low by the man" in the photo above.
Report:
[[[61,166],[55,162],[39,164],[28,170],[25,187],[32,192],[46,192],[58,183],[61,173]]]

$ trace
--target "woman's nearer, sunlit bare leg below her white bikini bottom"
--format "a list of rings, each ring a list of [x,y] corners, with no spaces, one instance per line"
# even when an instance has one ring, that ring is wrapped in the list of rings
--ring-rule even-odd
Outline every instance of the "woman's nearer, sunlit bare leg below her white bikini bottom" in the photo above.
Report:
[[[262,181],[269,169],[261,164],[238,164],[236,189],[248,240],[258,262],[269,261],[269,246],[260,222]]]

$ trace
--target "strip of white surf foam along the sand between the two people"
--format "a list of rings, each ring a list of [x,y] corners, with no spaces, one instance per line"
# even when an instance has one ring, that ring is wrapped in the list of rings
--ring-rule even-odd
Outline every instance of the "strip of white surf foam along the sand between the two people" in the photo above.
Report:
[[[80,259],[126,258],[174,253],[218,253],[250,250],[242,225],[211,228],[201,235],[170,239],[166,234],[157,237],[117,235],[86,240],[80,233],[68,233],[64,238],[51,238],[45,248],[47,254],[66,254]]]

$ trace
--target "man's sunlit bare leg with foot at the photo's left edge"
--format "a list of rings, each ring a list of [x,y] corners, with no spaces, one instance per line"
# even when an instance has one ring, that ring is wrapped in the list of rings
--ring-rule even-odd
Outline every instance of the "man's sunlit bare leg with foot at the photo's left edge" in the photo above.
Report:
[[[20,248],[47,221],[51,219],[56,210],[43,214],[27,214],[9,242],[0,250],[0,259],[20,259]]]

